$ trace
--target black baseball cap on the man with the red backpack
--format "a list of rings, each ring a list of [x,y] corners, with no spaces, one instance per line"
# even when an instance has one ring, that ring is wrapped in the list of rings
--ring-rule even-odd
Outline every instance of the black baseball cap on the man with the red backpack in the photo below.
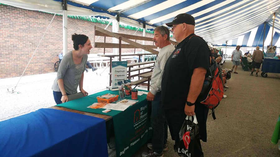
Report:
[[[166,25],[168,27],[172,27],[172,25],[177,25],[177,24],[182,24],[182,23],[194,25],[195,24],[194,17],[187,13],[179,14],[173,19],[172,22],[166,23]]]

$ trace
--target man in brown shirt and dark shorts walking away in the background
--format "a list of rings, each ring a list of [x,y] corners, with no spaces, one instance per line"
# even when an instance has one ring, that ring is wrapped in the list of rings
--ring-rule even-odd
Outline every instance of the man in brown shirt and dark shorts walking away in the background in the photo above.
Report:
[[[262,64],[263,58],[264,58],[264,53],[260,51],[259,46],[257,46],[252,56],[253,61],[252,61],[252,72],[250,74],[251,76],[253,76],[254,68],[257,68],[256,77],[258,77],[259,68],[260,65]]]

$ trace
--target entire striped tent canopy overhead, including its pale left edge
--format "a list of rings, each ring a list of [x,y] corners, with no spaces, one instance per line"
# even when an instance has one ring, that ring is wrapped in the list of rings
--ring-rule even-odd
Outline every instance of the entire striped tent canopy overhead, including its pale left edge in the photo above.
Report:
[[[38,6],[39,9],[44,11],[45,8],[45,11],[52,13],[62,12],[62,0],[0,2],[13,6],[29,6],[28,9],[31,5],[33,8]],[[278,33],[280,30],[279,0],[68,0],[68,15],[75,12],[77,15],[99,15],[113,19],[119,15],[121,22],[138,27],[143,27],[145,23],[146,28],[165,25],[176,15],[188,13],[195,18],[195,33],[214,45],[229,39],[235,40],[234,38],[245,32],[247,35],[250,31],[253,33],[255,28],[259,31],[264,22],[271,27],[273,13],[277,15],[274,30]]]

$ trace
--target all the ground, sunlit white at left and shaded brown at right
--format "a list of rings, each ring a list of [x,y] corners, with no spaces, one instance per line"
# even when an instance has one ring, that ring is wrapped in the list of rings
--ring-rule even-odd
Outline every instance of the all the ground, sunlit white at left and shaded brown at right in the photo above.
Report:
[[[230,68],[231,61],[226,60],[224,67]],[[84,88],[89,94],[108,86],[109,69],[99,75],[103,70],[85,73]],[[215,110],[217,119],[208,117],[208,142],[202,142],[204,155],[279,157],[278,145],[270,140],[280,114],[280,74],[268,73],[268,78],[249,76],[250,72],[241,67],[237,72],[228,80],[227,98]],[[56,73],[24,76],[16,89],[20,93],[13,94],[7,93],[7,88],[14,87],[19,77],[0,79],[0,121],[55,105],[51,90],[55,77]],[[168,147],[164,156],[177,156],[170,134]],[[142,146],[135,156],[146,150]]]

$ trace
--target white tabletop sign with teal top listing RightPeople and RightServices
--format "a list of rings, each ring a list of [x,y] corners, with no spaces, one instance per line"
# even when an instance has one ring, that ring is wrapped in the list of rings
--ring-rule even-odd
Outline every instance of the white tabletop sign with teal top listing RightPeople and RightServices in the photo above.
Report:
[[[118,88],[118,81],[127,79],[127,61],[112,62],[112,89]]]

